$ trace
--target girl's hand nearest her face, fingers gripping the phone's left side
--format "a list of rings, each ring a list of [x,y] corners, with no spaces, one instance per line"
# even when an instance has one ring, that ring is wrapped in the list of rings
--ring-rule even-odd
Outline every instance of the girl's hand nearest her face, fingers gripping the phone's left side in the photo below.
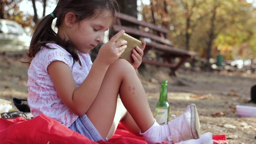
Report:
[[[103,44],[96,59],[107,65],[112,64],[116,59],[118,59],[127,48],[126,40],[116,42],[122,34],[124,34],[124,30],[120,30],[120,32],[115,34],[106,44]]]

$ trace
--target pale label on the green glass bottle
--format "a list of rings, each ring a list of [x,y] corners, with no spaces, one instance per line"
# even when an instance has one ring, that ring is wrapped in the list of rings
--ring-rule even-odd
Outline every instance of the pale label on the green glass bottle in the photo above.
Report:
[[[167,108],[156,108],[156,122],[158,124],[167,124],[168,109]]]

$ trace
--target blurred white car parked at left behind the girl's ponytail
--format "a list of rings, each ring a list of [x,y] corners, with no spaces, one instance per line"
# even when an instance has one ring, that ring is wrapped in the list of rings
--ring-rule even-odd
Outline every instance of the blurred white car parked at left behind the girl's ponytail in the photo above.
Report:
[[[20,24],[0,19],[0,51],[25,50],[30,44],[30,36]]]

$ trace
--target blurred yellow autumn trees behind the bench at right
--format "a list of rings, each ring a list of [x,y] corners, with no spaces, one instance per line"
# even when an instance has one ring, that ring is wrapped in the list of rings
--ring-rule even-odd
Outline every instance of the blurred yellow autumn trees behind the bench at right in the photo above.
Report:
[[[206,59],[256,56],[256,10],[246,0],[150,0],[142,7],[143,19],[168,28],[177,48]]]

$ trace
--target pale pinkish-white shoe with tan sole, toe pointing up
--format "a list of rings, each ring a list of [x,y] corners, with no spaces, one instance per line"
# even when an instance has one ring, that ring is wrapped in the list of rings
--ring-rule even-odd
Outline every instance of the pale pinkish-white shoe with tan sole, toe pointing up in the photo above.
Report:
[[[176,143],[191,139],[200,138],[200,122],[195,104],[190,104],[186,111],[168,122],[171,135],[168,136],[170,142]]]

